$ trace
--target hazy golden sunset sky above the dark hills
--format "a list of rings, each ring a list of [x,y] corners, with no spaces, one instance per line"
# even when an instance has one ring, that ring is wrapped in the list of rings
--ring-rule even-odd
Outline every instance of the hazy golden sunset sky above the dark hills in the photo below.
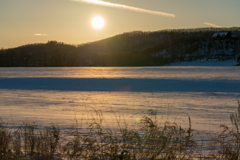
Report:
[[[0,0],[0,48],[82,44],[131,31],[240,27],[240,0]],[[94,17],[104,26],[96,29]]]

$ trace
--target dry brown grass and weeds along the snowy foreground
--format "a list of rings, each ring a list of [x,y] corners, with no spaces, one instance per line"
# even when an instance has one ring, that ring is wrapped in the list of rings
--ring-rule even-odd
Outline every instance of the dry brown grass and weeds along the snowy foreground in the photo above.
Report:
[[[129,129],[126,122],[116,117],[117,130],[103,127],[101,111],[89,123],[88,134],[72,127],[60,134],[57,125],[40,128],[23,123],[10,129],[0,121],[0,160],[11,159],[109,159],[109,160],[168,160],[168,159],[239,159],[240,103],[238,111],[230,115],[232,126],[220,126],[222,131],[209,136],[207,154],[194,138],[199,136],[189,127],[176,123],[159,122],[154,110],[143,116],[138,129]],[[64,131],[62,131],[64,132]]]

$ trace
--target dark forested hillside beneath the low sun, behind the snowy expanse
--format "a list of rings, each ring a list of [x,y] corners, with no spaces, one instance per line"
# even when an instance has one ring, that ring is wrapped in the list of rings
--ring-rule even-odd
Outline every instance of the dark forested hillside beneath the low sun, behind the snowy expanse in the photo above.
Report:
[[[239,38],[212,38],[216,32],[239,37],[240,28],[134,31],[96,42],[68,45],[57,41],[1,49],[1,67],[156,66],[215,59],[240,62]]]

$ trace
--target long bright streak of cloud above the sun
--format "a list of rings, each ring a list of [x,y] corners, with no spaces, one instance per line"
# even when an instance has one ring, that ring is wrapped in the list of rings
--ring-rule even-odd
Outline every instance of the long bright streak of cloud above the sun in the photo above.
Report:
[[[135,12],[142,12],[142,13],[148,13],[148,14],[165,16],[165,17],[176,17],[176,15],[170,14],[170,13],[146,10],[146,9],[137,8],[137,7],[131,7],[131,6],[122,5],[122,4],[105,2],[105,1],[102,1],[102,0],[72,0],[72,1],[83,2],[83,3],[90,3],[90,4],[94,4],[94,5],[100,5],[100,6],[121,8],[121,9],[131,10],[131,11],[135,11]]]

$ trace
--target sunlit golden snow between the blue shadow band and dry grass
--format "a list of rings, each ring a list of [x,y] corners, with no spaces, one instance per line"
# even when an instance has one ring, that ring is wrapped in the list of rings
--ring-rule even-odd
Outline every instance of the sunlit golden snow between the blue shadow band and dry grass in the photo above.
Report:
[[[68,128],[76,119],[84,125],[94,115],[93,107],[102,110],[109,122],[115,112],[135,125],[149,109],[155,109],[162,121],[187,127],[190,116],[194,129],[214,131],[222,123],[230,124],[229,114],[236,111],[240,94],[1,90],[0,97],[1,117],[13,126],[22,122],[42,125],[54,122]]]

